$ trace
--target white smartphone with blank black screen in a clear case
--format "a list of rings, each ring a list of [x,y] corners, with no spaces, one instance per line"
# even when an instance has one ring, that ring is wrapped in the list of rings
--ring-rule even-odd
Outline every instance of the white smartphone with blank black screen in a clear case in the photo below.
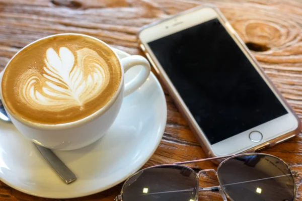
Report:
[[[299,133],[300,120],[216,8],[145,26],[138,38],[208,156],[254,152]]]

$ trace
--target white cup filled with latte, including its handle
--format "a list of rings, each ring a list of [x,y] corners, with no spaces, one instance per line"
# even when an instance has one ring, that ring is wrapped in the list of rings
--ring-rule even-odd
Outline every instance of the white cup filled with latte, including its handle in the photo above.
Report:
[[[124,72],[135,66],[141,70],[125,83]],[[12,123],[32,142],[73,150],[104,136],[123,98],[149,74],[142,56],[113,51],[91,36],[58,34],[15,54],[0,73],[0,96]]]

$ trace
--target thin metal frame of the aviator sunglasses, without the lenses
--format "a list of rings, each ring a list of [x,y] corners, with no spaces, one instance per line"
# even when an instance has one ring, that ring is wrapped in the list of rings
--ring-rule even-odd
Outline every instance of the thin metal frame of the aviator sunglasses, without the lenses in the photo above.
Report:
[[[150,167],[147,167],[147,168],[144,168],[144,169],[141,169],[139,171],[137,171],[136,173],[132,174],[131,176],[129,176],[123,186],[122,186],[122,189],[121,189],[121,192],[119,195],[117,195],[114,199],[114,201],[123,201],[123,191],[124,191],[124,187],[125,187],[125,184],[127,183],[127,181],[132,178],[133,176],[135,176],[136,174],[139,174],[140,172],[142,171],[145,171],[145,170],[148,170],[148,169],[151,169],[151,168],[157,168],[157,167],[165,167],[165,166],[170,166],[170,167],[182,167],[182,168],[186,168],[192,172],[194,172],[195,174],[195,178],[196,178],[196,189],[198,189],[198,193],[196,193],[196,198],[195,198],[195,201],[198,201],[198,195],[199,195],[199,191],[219,191],[223,200],[224,201],[227,201],[229,198],[231,201],[234,201],[227,192],[225,192],[225,190],[223,189],[223,187],[221,186],[221,182],[220,182],[220,178],[219,178],[219,169],[221,167],[221,165],[223,165],[225,162],[227,162],[228,160],[230,159],[233,159],[233,158],[236,158],[236,157],[239,157],[239,156],[248,156],[248,155],[264,155],[264,156],[270,156],[270,157],[273,157],[273,158],[276,158],[278,160],[280,160],[281,162],[283,162],[286,167],[288,168],[288,171],[290,172],[291,176],[292,176],[292,179],[294,181],[294,177],[298,177],[299,174],[298,172],[296,171],[293,171],[290,169],[289,165],[284,161],[282,160],[281,158],[277,157],[277,156],[274,156],[274,155],[271,155],[271,154],[265,154],[265,153],[243,153],[243,154],[235,154],[235,155],[229,155],[229,156],[219,156],[219,157],[213,157],[213,158],[205,158],[205,159],[199,159],[199,160],[191,160],[191,161],[184,161],[184,162],[176,162],[176,163],[173,163],[173,164],[163,164],[163,165],[155,165],[155,166],[150,166]],[[208,160],[217,160],[217,159],[223,159],[225,158],[222,162],[220,162],[220,164],[218,165],[217,167],[217,170],[214,170],[214,169],[204,169],[204,170],[200,170],[199,172],[196,172],[195,170],[193,170],[192,168],[188,167],[188,166],[185,166],[183,164],[190,164],[190,163],[196,163],[196,162],[203,162],[203,161],[208,161]],[[215,173],[215,175],[217,176],[217,179],[218,179],[218,182],[219,182],[219,185],[218,186],[211,186],[211,187],[205,187],[205,188],[200,188],[199,187],[199,177],[200,177],[200,174],[201,173],[204,173],[204,172],[209,172],[209,171],[212,171]],[[293,196],[293,200],[295,200],[295,196],[296,196],[296,183],[294,183],[294,196]]]

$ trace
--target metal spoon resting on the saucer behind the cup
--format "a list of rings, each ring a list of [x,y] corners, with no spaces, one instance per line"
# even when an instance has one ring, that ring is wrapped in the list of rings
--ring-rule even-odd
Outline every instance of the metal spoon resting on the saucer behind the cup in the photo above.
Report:
[[[11,119],[7,115],[2,101],[0,99],[0,120],[5,122],[11,122]],[[34,143],[35,144],[35,143]],[[40,145],[35,144],[47,162],[52,166],[56,173],[61,177],[61,179],[66,183],[72,183],[77,180],[77,176],[50,150]]]

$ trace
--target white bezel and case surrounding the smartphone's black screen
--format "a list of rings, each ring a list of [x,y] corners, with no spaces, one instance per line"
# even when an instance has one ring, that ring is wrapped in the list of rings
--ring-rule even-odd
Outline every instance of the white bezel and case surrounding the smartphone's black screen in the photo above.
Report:
[[[168,36],[170,34],[177,33],[181,30],[190,28],[192,26],[198,25],[214,18],[217,18],[222,24],[222,26],[226,29],[226,31],[228,31],[228,33],[232,36],[233,40],[241,48],[241,50],[247,56],[249,61],[253,64],[255,69],[258,71],[258,73],[261,75],[261,77],[265,80],[270,89],[274,92],[276,97],[282,103],[284,108],[287,110],[288,114],[211,145],[147,43]],[[140,46],[142,50],[145,52],[146,56],[153,64],[159,76],[162,78],[162,80],[164,80],[165,84],[168,85],[169,91],[172,92],[171,95],[176,100],[176,105],[185,115],[190,127],[194,130],[195,134],[201,141],[203,148],[205,149],[205,151],[207,151],[208,155],[222,156],[236,154],[248,150],[255,151],[257,147],[261,147],[263,144],[271,146],[281,141],[282,139],[287,139],[298,134],[297,130],[300,126],[300,122],[298,121],[297,116],[288,106],[288,104],[278,92],[278,90],[275,88],[275,86],[272,84],[272,82],[265,75],[264,71],[259,67],[257,61],[249,53],[249,50],[238,37],[229,22],[226,21],[223,15],[216,8],[195,8],[181,13],[180,15],[177,15],[173,18],[164,20],[162,22],[148,25],[146,27],[143,27],[143,29],[139,32],[138,37],[141,43]],[[252,142],[249,139],[249,134],[252,131],[261,132],[263,134],[263,139],[260,142]],[[294,133],[292,133],[293,131]]]

